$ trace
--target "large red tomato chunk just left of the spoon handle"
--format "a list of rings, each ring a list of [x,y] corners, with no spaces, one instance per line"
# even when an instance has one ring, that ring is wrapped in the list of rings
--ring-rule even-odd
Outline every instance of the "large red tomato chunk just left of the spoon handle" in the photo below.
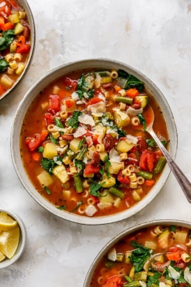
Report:
[[[140,169],[148,172],[152,172],[155,165],[155,153],[153,151],[145,150],[140,155]]]

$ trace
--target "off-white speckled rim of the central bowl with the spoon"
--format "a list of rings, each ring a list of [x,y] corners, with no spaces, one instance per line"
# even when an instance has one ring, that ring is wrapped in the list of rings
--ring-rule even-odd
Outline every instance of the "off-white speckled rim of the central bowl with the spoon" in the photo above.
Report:
[[[145,82],[146,89],[153,95],[155,95],[155,98],[160,105],[163,115],[165,117],[165,120],[167,122],[168,132],[169,132],[169,138],[170,138],[170,145],[169,145],[169,152],[172,156],[172,158],[175,158],[176,150],[177,150],[177,131],[176,126],[174,122],[174,118],[171,112],[171,109],[161,93],[161,91],[157,88],[157,86],[144,74],[136,70],[135,68],[115,60],[111,59],[87,59],[87,60],[80,60],[76,62],[71,62],[62,66],[59,66],[50,72],[46,73],[44,76],[42,76],[26,93],[23,100],[18,106],[18,109],[16,111],[15,119],[12,126],[12,132],[11,132],[11,154],[13,159],[13,164],[15,167],[15,170],[17,172],[17,175],[19,179],[21,180],[21,183],[25,187],[25,189],[28,191],[28,193],[46,210],[50,211],[52,214],[57,215],[60,218],[66,219],[71,222],[79,223],[79,224],[85,224],[85,225],[100,225],[100,224],[108,224],[108,223],[114,223],[117,221],[121,221],[124,219],[127,219],[133,215],[135,215],[137,212],[145,208],[153,199],[154,197],[159,193],[163,185],[165,184],[169,174],[170,174],[170,168],[168,165],[166,165],[161,177],[159,178],[157,184],[153,187],[152,191],[150,191],[143,199],[141,199],[138,203],[136,203],[132,208],[117,213],[115,215],[110,216],[104,216],[104,217],[85,217],[85,216],[79,216],[75,215],[69,212],[64,212],[56,207],[53,206],[52,203],[47,201],[45,198],[43,198],[34,188],[32,183],[29,181],[26,172],[24,170],[21,156],[20,156],[20,147],[19,147],[19,140],[20,140],[20,131],[22,127],[23,118],[25,116],[25,111],[28,109],[31,101],[37,96],[37,94],[47,85],[52,83],[55,79],[61,77],[62,75],[68,74],[75,70],[80,69],[86,69],[86,68],[108,68],[108,69],[124,69],[127,72],[133,74],[140,80]]]

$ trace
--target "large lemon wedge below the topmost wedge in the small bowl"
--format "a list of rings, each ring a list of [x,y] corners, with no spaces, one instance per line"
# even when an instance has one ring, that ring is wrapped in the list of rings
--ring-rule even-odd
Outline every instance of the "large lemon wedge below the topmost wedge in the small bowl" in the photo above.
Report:
[[[16,227],[15,229],[10,230],[9,232],[1,232],[0,236],[6,237],[6,241],[4,242],[5,244],[0,243],[0,251],[7,258],[11,259],[15,255],[19,245],[20,229],[19,227]]]

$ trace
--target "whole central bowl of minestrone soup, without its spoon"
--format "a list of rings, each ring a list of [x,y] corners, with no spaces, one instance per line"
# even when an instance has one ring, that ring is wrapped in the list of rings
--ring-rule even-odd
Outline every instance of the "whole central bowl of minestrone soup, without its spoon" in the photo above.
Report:
[[[13,162],[24,187],[45,209],[73,222],[134,215],[170,172],[145,131],[150,106],[154,130],[174,158],[170,107],[142,73],[108,59],[47,73],[25,95],[12,129]]]

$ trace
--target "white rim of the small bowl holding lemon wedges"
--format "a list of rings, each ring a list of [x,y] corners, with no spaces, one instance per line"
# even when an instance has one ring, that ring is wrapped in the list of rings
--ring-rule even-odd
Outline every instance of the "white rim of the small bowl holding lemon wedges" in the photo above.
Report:
[[[5,212],[8,215],[10,215],[11,217],[13,217],[17,221],[17,223],[20,227],[20,232],[21,232],[19,245],[18,245],[16,254],[13,256],[13,258],[5,259],[4,261],[0,262],[0,269],[3,269],[3,268],[10,266],[13,263],[15,263],[20,258],[20,256],[23,254],[25,246],[26,246],[27,232],[26,232],[26,227],[25,227],[22,219],[16,213],[14,213],[10,210],[2,209],[2,208],[0,208],[0,212]]]

